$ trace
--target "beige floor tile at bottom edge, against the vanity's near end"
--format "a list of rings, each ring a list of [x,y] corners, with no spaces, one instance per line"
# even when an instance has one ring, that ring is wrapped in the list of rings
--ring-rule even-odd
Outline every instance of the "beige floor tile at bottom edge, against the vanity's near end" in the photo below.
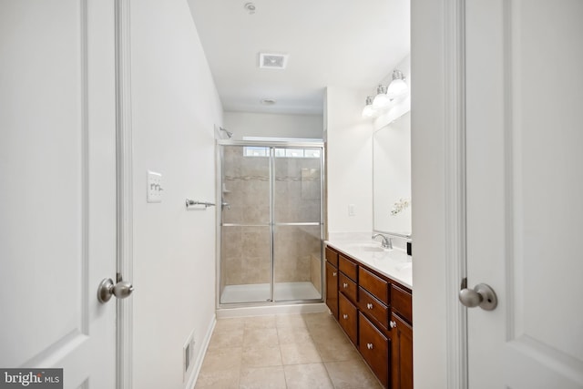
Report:
[[[336,389],[382,389],[362,359],[324,364]]]

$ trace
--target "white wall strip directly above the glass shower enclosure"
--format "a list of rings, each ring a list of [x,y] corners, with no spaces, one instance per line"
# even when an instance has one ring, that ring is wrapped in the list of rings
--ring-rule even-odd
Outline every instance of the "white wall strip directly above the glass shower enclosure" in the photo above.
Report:
[[[234,134],[233,139],[242,137],[322,139],[321,115],[225,112],[223,120],[224,128]]]

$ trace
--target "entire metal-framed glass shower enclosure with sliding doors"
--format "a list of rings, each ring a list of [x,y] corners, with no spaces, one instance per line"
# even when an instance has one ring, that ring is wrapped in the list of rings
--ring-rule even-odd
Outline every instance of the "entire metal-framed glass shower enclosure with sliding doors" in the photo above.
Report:
[[[217,144],[220,305],[322,302],[322,142]]]

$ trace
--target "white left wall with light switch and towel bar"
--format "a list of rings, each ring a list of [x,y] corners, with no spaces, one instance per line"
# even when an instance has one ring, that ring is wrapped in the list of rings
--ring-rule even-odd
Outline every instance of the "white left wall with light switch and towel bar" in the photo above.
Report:
[[[195,361],[215,314],[214,125],[221,106],[185,0],[131,5],[134,148],[134,388],[183,388],[182,346]],[[147,170],[163,200],[146,202]],[[187,381],[188,381],[187,377]]]

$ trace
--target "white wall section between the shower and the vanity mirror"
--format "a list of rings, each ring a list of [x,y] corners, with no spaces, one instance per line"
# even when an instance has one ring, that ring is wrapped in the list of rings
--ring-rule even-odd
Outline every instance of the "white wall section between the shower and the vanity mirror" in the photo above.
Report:
[[[345,87],[326,90],[329,233],[373,230],[373,124],[362,118],[363,96]]]

